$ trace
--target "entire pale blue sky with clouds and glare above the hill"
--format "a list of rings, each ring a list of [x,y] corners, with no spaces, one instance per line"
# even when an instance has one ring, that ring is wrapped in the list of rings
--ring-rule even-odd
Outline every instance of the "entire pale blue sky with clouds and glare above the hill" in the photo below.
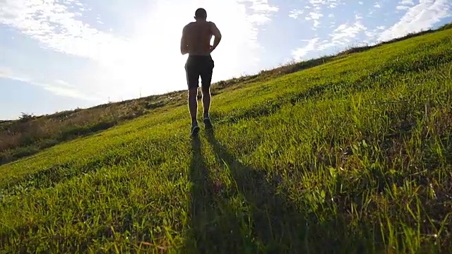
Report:
[[[0,119],[185,90],[200,6],[223,35],[214,82],[452,21],[452,0],[0,0]]]

